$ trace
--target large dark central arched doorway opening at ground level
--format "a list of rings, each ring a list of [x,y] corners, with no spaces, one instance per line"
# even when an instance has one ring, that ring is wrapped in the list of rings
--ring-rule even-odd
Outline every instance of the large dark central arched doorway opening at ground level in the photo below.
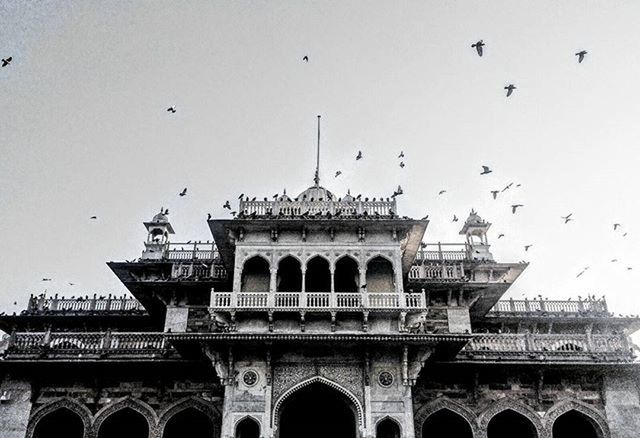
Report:
[[[355,406],[330,386],[312,383],[284,401],[277,431],[278,438],[356,438]]]

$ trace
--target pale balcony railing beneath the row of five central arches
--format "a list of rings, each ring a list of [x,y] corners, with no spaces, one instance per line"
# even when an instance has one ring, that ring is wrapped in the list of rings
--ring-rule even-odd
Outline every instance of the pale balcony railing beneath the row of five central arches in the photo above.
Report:
[[[418,310],[424,296],[416,293],[367,292],[212,292],[213,310]]]

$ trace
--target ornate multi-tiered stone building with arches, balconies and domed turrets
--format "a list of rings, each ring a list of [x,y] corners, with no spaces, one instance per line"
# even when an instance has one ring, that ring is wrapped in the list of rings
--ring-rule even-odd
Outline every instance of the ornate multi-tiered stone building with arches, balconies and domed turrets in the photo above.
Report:
[[[108,263],[135,298],[0,316],[0,437],[640,436],[640,319],[501,300],[527,265],[494,260],[476,212],[425,243],[397,197],[315,181],[242,198],[212,241],[155,215],[141,257]]]

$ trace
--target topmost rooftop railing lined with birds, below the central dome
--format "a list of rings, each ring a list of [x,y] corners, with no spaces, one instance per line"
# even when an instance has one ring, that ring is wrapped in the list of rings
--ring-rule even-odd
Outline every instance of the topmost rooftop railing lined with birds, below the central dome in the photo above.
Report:
[[[338,201],[338,200],[277,200],[240,201],[240,216],[339,216],[339,217],[392,217],[397,214],[396,200]]]

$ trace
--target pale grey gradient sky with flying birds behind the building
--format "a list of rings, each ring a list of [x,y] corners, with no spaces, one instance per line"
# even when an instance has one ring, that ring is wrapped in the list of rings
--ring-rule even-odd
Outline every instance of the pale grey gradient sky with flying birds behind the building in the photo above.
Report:
[[[0,310],[126,292],[105,263],[138,257],[161,207],[174,241],[207,240],[226,200],[297,195],[320,114],[336,195],[402,185],[428,242],[462,242],[475,208],[496,260],[530,263],[506,298],[640,314],[638,17],[637,1],[0,0]]]

